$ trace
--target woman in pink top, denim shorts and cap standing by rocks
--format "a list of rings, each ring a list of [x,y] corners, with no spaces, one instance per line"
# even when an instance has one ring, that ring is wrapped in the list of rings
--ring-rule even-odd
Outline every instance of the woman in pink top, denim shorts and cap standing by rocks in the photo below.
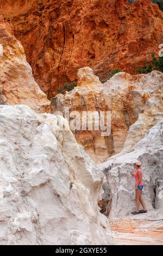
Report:
[[[146,205],[142,199],[142,190],[143,190],[143,182],[142,182],[142,170],[140,169],[141,162],[136,161],[134,163],[134,170],[132,170],[131,174],[135,176],[135,195],[136,195],[136,211],[131,212],[131,214],[144,214],[147,212]],[[142,210],[139,210],[140,204],[143,206]]]

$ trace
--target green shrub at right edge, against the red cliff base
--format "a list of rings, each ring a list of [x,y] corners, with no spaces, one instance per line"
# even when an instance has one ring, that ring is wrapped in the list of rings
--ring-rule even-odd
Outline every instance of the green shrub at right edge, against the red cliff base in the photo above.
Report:
[[[153,60],[152,62],[147,65],[146,63],[143,64],[142,69],[140,67],[137,68],[138,74],[148,74],[152,70],[159,70],[163,72],[163,57],[156,58],[154,54],[151,54]]]

